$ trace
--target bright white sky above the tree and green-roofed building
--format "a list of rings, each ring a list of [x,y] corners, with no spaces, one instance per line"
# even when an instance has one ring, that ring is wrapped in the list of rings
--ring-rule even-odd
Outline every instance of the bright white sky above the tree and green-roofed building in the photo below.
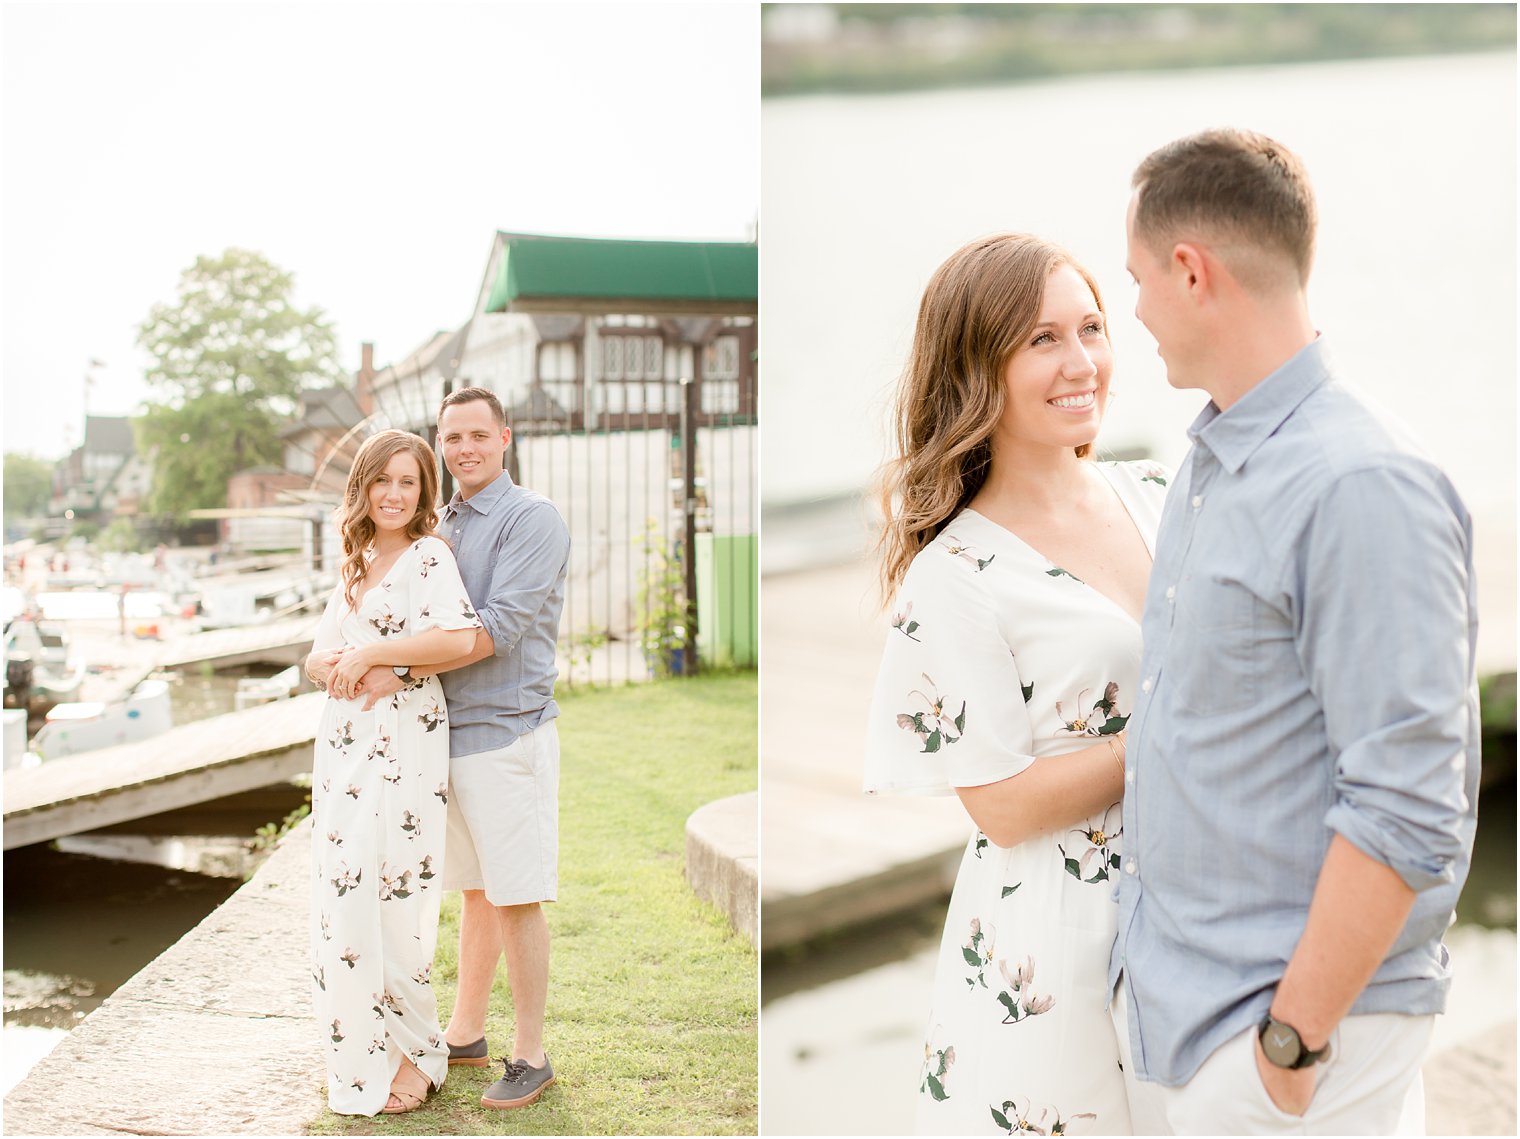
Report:
[[[497,230],[749,239],[758,5],[17,3],[0,46],[5,449],[149,394],[137,324],[258,249],[340,360],[468,319]]]

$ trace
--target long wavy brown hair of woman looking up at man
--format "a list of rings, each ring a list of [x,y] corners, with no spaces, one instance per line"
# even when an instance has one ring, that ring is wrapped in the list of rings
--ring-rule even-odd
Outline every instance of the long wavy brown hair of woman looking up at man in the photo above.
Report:
[[[971,242],[929,280],[892,409],[894,456],[879,476],[883,604],[914,555],[986,482],[1006,401],[1003,371],[1038,322],[1046,281],[1061,265],[1081,274],[1107,318],[1093,275],[1059,245],[1031,234]],[[1091,450],[1082,444],[1076,453]]]

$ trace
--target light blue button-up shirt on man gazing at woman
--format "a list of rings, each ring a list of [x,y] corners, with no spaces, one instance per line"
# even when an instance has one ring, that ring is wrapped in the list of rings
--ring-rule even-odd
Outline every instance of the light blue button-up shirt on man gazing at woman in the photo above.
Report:
[[[1438,1013],[1477,815],[1471,522],[1313,341],[1189,429],[1146,593],[1110,988],[1137,1075],[1259,1022],[1333,835],[1418,891],[1351,1013]]]

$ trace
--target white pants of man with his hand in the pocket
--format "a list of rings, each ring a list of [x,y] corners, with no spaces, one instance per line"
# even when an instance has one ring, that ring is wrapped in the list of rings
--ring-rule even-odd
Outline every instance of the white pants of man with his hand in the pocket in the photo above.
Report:
[[[1424,1134],[1420,1061],[1435,1016],[1348,1016],[1315,1064],[1303,1116],[1268,1096],[1256,1069],[1256,1025],[1225,1040],[1181,1087],[1135,1080],[1123,978],[1111,1007],[1135,1134]]]

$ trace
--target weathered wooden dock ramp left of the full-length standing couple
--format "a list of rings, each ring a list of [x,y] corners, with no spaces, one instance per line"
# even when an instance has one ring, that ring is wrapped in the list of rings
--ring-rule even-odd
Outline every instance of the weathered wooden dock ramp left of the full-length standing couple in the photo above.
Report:
[[[5,849],[146,818],[312,769],[322,692],[5,773]]]

